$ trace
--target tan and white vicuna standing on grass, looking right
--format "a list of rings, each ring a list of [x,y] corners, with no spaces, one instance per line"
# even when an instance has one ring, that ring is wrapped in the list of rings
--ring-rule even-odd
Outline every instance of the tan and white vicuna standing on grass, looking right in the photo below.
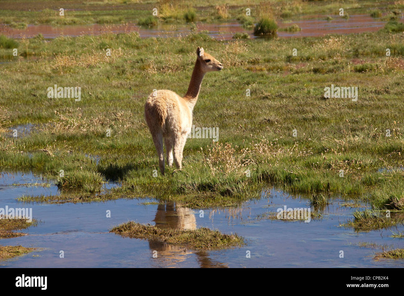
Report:
[[[196,49],[196,63],[187,93],[182,98],[171,90],[156,90],[146,100],[145,119],[158,155],[158,166],[164,175],[163,138],[168,166],[182,168],[182,151],[192,127],[192,111],[198,100],[202,79],[206,72],[223,69],[214,57]],[[174,154],[174,158],[173,158]]]

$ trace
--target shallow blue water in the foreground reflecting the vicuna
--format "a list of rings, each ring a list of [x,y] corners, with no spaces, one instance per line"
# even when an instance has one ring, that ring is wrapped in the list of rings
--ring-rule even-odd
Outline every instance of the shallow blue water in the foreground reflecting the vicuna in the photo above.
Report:
[[[0,208],[32,207],[38,226],[23,229],[29,235],[0,239],[2,245],[37,247],[41,251],[0,262],[2,267],[403,267],[404,260],[372,259],[380,249],[360,248],[368,242],[403,248],[402,239],[388,237],[389,230],[355,233],[337,227],[351,218],[355,208],[341,206],[333,199],[322,212],[322,219],[283,222],[260,219],[263,213],[288,208],[306,208],[307,199],[292,197],[274,189],[258,201],[237,207],[199,211],[173,204],[149,204],[154,199],[119,199],[90,204],[23,204],[15,200],[22,194],[55,194],[57,187],[15,187],[13,183],[43,183],[33,174],[2,173]],[[111,218],[106,217],[107,210]],[[258,217],[258,218],[257,218]],[[141,239],[123,238],[109,229],[134,220],[158,227],[195,229],[208,227],[222,233],[238,233],[247,246],[219,251],[195,251]],[[403,225],[393,231],[403,231]],[[64,258],[59,252],[64,251]],[[153,251],[158,258],[152,258]],[[246,251],[251,258],[246,258]],[[344,258],[339,258],[343,250]],[[38,255],[38,256],[37,256]]]

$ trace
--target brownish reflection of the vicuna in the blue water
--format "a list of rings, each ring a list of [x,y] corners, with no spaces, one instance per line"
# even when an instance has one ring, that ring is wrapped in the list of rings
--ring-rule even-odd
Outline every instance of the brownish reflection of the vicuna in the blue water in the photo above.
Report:
[[[156,226],[159,228],[174,228],[181,230],[196,229],[194,212],[189,208],[175,206],[174,204],[159,204],[156,217]],[[157,251],[157,260],[160,267],[175,267],[179,262],[190,258],[195,253],[200,267],[225,267],[223,263],[212,262],[204,251],[191,252],[179,246],[168,245],[159,241],[149,241],[152,251]]]

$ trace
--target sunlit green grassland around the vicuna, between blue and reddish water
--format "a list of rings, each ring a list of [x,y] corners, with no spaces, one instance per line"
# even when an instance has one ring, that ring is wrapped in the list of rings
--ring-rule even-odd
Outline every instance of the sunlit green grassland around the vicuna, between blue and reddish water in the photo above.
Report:
[[[156,197],[191,208],[237,204],[276,185],[290,193],[366,197],[373,206],[400,210],[403,41],[403,33],[385,32],[236,41],[199,33],[18,40],[27,58],[0,49],[12,61],[0,66],[0,166],[54,178],[62,188],[57,199],[65,194],[68,202],[102,200],[92,193],[105,179],[122,182],[107,198]],[[144,102],[155,88],[185,94],[197,46],[224,66],[205,76],[193,122],[218,127],[219,141],[188,139],[183,170],[154,177],[158,161]],[[81,101],[48,99],[54,84],[80,86]],[[325,99],[331,84],[358,86],[358,101]],[[27,123],[35,125],[29,135],[12,136]],[[60,170],[70,178],[61,180]],[[69,188],[82,189],[82,198]]]

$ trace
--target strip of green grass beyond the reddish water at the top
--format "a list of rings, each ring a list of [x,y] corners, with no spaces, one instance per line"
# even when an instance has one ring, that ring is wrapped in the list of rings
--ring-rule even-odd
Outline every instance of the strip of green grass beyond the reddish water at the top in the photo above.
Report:
[[[349,13],[368,14],[375,10],[374,0],[353,0],[349,4]],[[293,1],[277,0],[271,2],[248,2],[246,0],[204,1],[198,3],[176,1],[137,1],[137,0],[109,0],[109,1],[72,1],[63,3],[65,15],[59,16],[57,3],[49,0],[2,0],[0,15],[2,23],[6,24],[47,24],[53,26],[92,24],[92,23],[138,23],[149,17],[153,8],[158,8],[158,18],[162,23],[186,23],[189,19],[213,23],[239,20],[240,15],[246,16],[246,7],[250,8],[250,20],[242,22],[251,27],[261,14],[269,14],[275,19],[293,18],[304,15],[337,14],[341,4],[329,1]],[[21,10],[21,7],[24,9]],[[47,8],[44,8],[47,7]],[[399,15],[403,4],[388,3],[385,9],[392,15]],[[191,17],[185,17],[187,11],[194,11]],[[381,13],[380,10],[376,10]],[[347,17],[345,12],[345,16]],[[195,17],[194,17],[195,16]],[[191,21],[192,22],[192,21]]]

